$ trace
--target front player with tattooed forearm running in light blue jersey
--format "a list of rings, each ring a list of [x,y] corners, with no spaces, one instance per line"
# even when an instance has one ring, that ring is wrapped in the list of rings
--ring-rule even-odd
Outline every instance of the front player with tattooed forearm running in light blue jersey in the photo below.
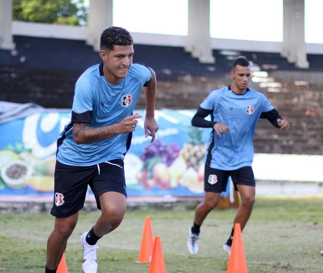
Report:
[[[101,215],[81,235],[84,273],[97,272],[97,241],[117,228],[127,206],[123,159],[141,115],[133,114],[143,86],[146,98],[145,137],[155,139],[156,76],[152,69],[132,64],[133,40],[120,27],[104,30],[102,63],[77,80],[70,123],[57,140],[55,197],[51,214],[55,227],[47,242],[46,273],[56,272],[67,240],[84,206],[88,185]]]

